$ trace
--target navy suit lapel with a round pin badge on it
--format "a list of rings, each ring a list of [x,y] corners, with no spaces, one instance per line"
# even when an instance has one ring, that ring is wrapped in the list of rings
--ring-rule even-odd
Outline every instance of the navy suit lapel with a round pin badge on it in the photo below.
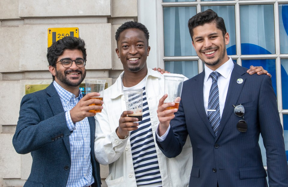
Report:
[[[238,101],[241,90],[246,80],[244,76],[245,73],[246,71],[243,69],[243,67],[234,63],[234,68],[231,73],[228,92],[227,92],[225,105],[224,105],[224,109],[223,109],[221,120],[220,120],[220,125],[218,128],[216,140],[221,134],[221,132],[223,131],[224,126],[226,125],[229,117],[232,115],[232,112],[234,111],[233,105],[237,104],[236,102]],[[237,79],[239,78],[243,79],[243,82],[241,84],[237,83]]]

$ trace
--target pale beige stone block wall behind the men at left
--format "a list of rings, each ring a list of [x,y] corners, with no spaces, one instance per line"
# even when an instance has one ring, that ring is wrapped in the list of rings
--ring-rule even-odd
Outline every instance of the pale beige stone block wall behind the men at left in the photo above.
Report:
[[[137,0],[0,1],[0,187],[23,186],[32,158],[12,145],[27,84],[50,84],[46,59],[48,28],[78,27],[87,47],[86,78],[108,86],[122,72],[114,39],[117,28],[137,21]],[[109,171],[101,166],[102,186]]]

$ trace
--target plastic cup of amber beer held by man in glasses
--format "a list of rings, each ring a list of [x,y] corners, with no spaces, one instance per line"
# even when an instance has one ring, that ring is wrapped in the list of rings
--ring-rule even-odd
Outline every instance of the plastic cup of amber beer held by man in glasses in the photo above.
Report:
[[[100,99],[103,101],[103,94],[104,94],[104,88],[105,88],[105,82],[106,80],[96,80],[96,79],[86,79],[85,80],[85,91],[87,93],[91,92],[98,92],[100,93],[100,96],[98,97],[91,97],[90,99]],[[101,105],[101,104],[91,104],[91,105]],[[91,106],[89,105],[89,106]],[[101,112],[102,110],[89,110],[89,112],[97,113]]]

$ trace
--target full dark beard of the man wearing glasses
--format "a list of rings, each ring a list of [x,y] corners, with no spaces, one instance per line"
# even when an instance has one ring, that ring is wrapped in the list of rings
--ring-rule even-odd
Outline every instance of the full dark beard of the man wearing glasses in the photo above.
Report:
[[[84,73],[81,70],[73,70],[73,71],[66,70],[66,71],[64,71],[64,74],[61,73],[60,71],[58,71],[56,68],[55,68],[55,71],[56,71],[55,77],[57,77],[57,79],[60,82],[62,82],[63,84],[65,84],[67,86],[79,86],[81,84],[81,82],[85,79],[85,76],[86,76],[86,70],[84,70]],[[72,82],[67,78],[67,74],[70,72],[80,73],[81,78],[79,79],[78,82]],[[77,79],[77,78],[72,78],[72,79]]]

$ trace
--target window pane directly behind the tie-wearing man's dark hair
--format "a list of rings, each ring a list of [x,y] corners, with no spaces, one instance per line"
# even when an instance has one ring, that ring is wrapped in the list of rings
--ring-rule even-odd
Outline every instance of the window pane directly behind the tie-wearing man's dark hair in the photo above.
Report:
[[[214,10],[225,22],[226,30],[229,33],[230,41],[226,45],[228,55],[236,55],[236,31],[235,31],[235,7],[230,6],[202,6],[201,11]]]

